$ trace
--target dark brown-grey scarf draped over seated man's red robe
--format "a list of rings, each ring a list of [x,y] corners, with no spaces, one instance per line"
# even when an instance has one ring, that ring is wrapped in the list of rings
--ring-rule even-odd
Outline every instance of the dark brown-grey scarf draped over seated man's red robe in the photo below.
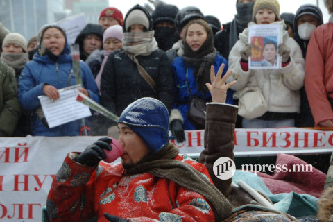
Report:
[[[128,174],[148,172],[160,178],[167,178],[178,185],[204,196],[214,208],[216,221],[221,221],[232,212],[232,205],[227,198],[198,170],[191,165],[173,160],[179,149],[169,143],[157,153],[144,157],[135,167],[127,170]]]

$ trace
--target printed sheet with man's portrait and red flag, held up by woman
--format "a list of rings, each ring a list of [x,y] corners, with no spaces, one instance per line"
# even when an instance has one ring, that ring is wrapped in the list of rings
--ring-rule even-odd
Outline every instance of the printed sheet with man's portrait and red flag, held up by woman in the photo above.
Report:
[[[248,44],[252,46],[249,69],[280,69],[278,45],[282,42],[282,26],[253,25],[248,27]]]

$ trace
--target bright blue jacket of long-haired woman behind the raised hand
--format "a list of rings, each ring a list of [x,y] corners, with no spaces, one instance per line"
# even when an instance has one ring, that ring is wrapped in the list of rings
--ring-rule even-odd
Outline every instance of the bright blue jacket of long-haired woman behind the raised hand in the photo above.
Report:
[[[225,68],[222,73],[222,76],[224,76],[226,71],[228,70],[228,61],[225,60],[225,58],[223,58],[222,56],[217,55],[214,62],[214,69],[216,73],[222,64],[225,64]],[[196,77],[194,76],[194,68],[187,67],[182,56],[179,56],[178,58],[173,60],[172,67],[175,78],[174,85],[176,90],[173,109],[180,110],[182,118],[184,119],[184,130],[196,130],[196,126],[190,123],[186,117],[187,111],[189,110],[189,102],[191,100],[191,97],[197,96],[207,102],[211,102],[212,96],[208,89],[205,92],[198,92],[198,84]],[[191,92],[191,94],[189,94],[189,92]],[[225,101],[225,103],[234,104],[232,99],[233,93],[234,92],[232,89],[228,89],[227,100]]]

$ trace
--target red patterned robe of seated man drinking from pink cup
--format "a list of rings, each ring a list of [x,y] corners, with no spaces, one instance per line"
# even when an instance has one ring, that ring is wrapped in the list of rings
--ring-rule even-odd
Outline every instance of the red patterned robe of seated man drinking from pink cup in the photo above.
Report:
[[[174,160],[190,164],[212,181],[203,164],[186,155]],[[123,176],[123,171],[121,164],[86,167],[67,156],[47,199],[51,221],[85,221],[94,216],[108,221],[105,212],[136,222],[215,221],[212,206],[200,194],[167,178],[150,173]]]

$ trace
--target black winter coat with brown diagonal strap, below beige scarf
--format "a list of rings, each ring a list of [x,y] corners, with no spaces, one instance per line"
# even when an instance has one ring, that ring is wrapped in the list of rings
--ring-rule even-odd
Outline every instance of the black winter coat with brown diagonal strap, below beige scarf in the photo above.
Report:
[[[137,56],[139,64],[153,78],[157,93],[139,74],[135,62],[123,49],[108,58],[101,77],[101,105],[120,116],[133,101],[142,97],[159,99],[169,112],[174,101],[173,72],[167,54],[157,49],[148,56]]]

